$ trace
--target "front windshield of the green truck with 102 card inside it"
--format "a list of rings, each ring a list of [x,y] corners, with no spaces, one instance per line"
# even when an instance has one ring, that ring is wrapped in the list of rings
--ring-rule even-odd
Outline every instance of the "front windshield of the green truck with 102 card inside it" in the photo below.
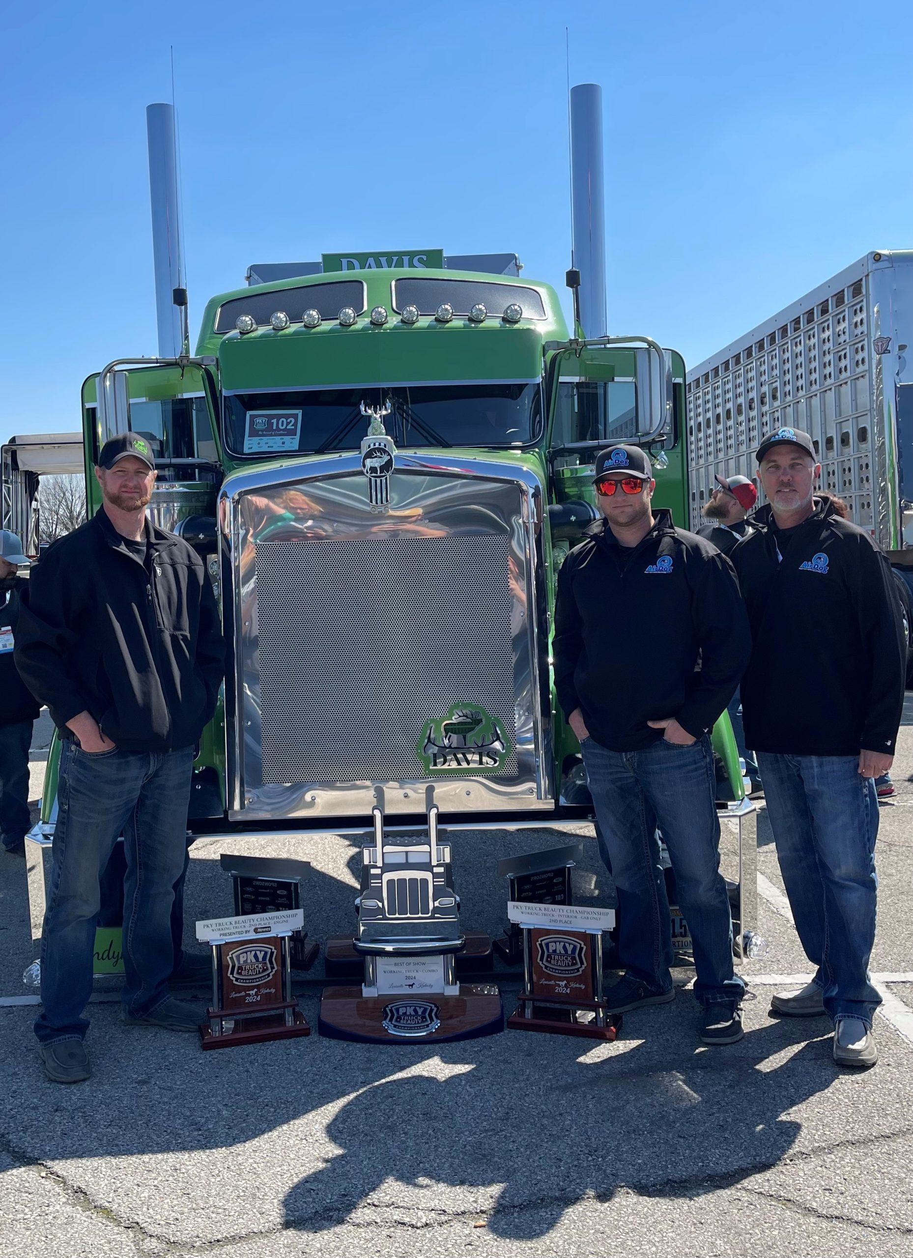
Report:
[[[538,381],[229,394],[225,445],[248,455],[357,450],[368,424],[362,403],[390,406],[385,428],[405,449],[521,447],[542,423]]]

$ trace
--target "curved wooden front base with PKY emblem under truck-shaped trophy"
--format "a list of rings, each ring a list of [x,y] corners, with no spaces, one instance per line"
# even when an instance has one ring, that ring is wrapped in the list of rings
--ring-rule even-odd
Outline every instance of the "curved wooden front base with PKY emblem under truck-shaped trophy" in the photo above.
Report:
[[[490,984],[460,984],[458,996],[362,996],[361,988],[324,988],[317,1029],[328,1039],[362,1044],[440,1044],[497,1035],[504,1010]]]

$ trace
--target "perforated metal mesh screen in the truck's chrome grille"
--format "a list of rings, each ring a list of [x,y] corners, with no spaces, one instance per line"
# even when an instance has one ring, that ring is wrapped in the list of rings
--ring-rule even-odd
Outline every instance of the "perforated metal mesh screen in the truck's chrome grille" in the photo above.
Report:
[[[260,542],[263,782],[424,777],[424,725],[497,716],[516,776],[508,540]]]

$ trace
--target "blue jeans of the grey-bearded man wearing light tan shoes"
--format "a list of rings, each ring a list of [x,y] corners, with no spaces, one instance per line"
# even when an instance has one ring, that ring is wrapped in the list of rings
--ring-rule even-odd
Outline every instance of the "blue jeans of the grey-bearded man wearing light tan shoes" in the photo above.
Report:
[[[833,1019],[872,1018],[878,796],[856,756],[758,752],[780,872],[805,955]]]

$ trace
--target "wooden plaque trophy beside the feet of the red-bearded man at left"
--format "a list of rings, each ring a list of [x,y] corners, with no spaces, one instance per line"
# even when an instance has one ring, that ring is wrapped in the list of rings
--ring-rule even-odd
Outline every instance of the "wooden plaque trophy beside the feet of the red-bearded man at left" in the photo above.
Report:
[[[213,950],[213,1005],[200,1024],[205,1049],[309,1035],[292,995],[289,938],[304,913],[216,917],[196,923],[196,937]]]

